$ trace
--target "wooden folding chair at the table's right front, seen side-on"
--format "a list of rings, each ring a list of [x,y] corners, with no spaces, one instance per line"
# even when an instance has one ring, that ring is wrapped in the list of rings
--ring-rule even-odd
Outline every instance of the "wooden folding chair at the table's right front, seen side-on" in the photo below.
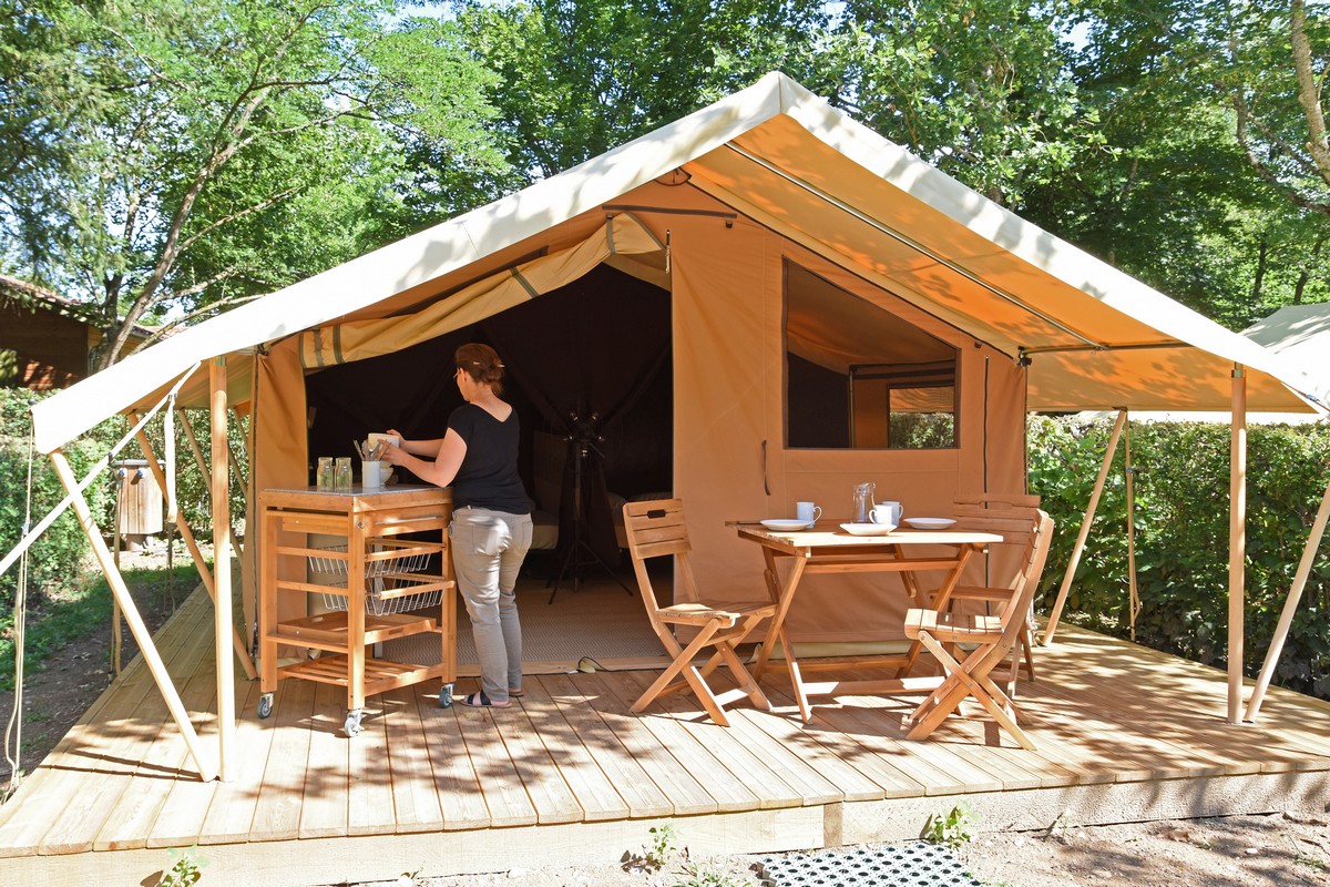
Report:
[[[1000,616],[938,613],[927,608],[906,612],[906,636],[918,638],[942,664],[944,674],[938,688],[910,715],[914,727],[907,735],[911,739],[928,737],[947,715],[972,697],[1023,749],[1035,749],[1035,743],[1016,722],[1016,705],[991,677],[1020,642],[1025,614],[1048,560],[1048,545],[1053,535],[1052,517],[1039,511],[1037,520],[1027,529],[1027,535],[1031,544],[1020,577],[1013,584],[1016,597],[1008,601]],[[947,649],[958,644],[976,646],[958,662]]]

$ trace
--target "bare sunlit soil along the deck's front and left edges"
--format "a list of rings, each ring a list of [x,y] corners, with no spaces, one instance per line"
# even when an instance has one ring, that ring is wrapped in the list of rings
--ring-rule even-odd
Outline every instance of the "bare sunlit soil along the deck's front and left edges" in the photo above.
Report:
[[[122,567],[161,567],[161,547],[124,553]],[[145,622],[156,630],[192,589],[165,582],[130,588]],[[129,632],[122,661],[137,648]],[[48,657],[27,676],[23,757],[35,767],[73,726],[112,680],[110,628],[90,626],[86,637]],[[13,693],[0,692],[0,718],[9,722]],[[0,786],[8,782],[0,761]],[[1330,802],[1330,799],[1327,799]],[[1282,814],[1077,827],[1059,823],[1040,832],[980,831],[958,848],[967,871],[984,884],[1008,887],[1079,887],[1129,883],[1133,887],[1330,887],[1330,815],[1290,818]],[[754,864],[761,856],[689,859],[681,827],[680,850],[665,864],[644,864],[646,847],[625,847],[621,864],[523,870],[496,864],[489,874],[415,876],[384,872],[372,884],[402,887],[747,887],[761,884]],[[980,823],[982,828],[982,823]],[[644,838],[648,835],[644,834]],[[855,848],[841,848],[849,852]],[[206,858],[206,850],[201,856]],[[206,880],[206,870],[205,870]],[[311,886],[313,887],[313,886]],[[858,887],[858,886],[857,886]],[[863,887],[876,887],[864,884]]]

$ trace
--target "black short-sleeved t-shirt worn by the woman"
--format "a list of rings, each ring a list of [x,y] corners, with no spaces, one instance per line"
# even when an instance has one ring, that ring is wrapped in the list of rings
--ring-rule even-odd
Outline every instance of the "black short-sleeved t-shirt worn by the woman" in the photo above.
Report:
[[[448,427],[467,444],[467,455],[452,479],[452,507],[531,513],[527,489],[517,476],[517,411],[499,422],[483,407],[466,403],[448,416]]]

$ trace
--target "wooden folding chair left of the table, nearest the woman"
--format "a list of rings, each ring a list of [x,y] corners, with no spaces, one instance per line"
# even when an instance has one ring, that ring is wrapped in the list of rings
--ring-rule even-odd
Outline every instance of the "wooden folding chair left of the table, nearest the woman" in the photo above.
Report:
[[[692,547],[688,541],[688,527],[684,523],[684,503],[678,499],[625,503],[624,531],[628,537],[628,552],[633,559],[633,570],[637,573],[637,585],[642,593],[642,604],[646,605],[646,616],[650,618],[652,628],[661,644],[674,657],[669,668],[633,703],[632,711],[642,711],[652,703],[652,699],[662,693],[673,693],[686,688],[697,694],[702,707],[721,726],[730,725],[725,717],[725,703],[742,696],[751,699],[754,706],[769,711],[771,703],[767,702],[766,696],[749,674],[734,648],[757,628],[758,622],[774,616],[777,605],[770,600],[743,604],[726,602],[724,606],[710,606],[701,601],[688,561]],[[681,596],[684,602],[670,606],[660,605],[652,588],[652,580],[646,573],[648,559],[665,556],[674,556],[676,578],[682,582],[684,589]],[[673,626],[676,625],[697,628],[697,634],[688,646],[680,644],[678,638],[674,637]],[[698,668],[693,660],[706,648],[714,648],[714,653],[705,665]],[[722,662],[729,668],[738,686],[717,696],[708,686],[706,676]],[[684,680],[677,681],[676,678],[680,676]]]

